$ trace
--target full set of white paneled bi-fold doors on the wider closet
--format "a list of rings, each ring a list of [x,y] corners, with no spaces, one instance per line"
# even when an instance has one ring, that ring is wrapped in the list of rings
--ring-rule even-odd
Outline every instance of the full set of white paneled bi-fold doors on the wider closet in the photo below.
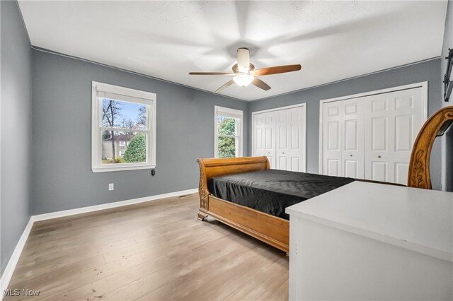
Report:
[[[426,120],[426,89],[420,83],[321,102],[323,175],[407,184],[412,146]]]

